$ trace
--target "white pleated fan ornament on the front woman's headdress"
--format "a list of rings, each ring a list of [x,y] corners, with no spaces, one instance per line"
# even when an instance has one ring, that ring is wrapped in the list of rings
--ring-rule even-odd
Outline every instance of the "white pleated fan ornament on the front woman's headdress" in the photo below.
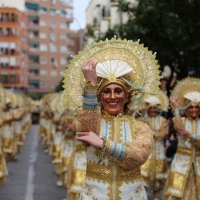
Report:
[[[97,76],[105,79],[108,79],[110,74],[114,74],[118,78],[131,71],[133,71],[131,66],[119,60],[107,60],[103,63],[98,63],[96,67]]]

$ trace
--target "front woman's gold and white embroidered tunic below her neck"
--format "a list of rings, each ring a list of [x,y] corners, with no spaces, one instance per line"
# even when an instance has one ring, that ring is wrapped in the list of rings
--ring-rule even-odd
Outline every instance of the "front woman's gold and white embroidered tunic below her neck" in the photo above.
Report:
[[[99,135],[109,142],[106,143],[106,151],[102,157],[94,147],[87,148],[86,179],[82,198],[98,199],[99,192],[105,188],[104,194],[101,194],[105,200],[125,199],[124,196],[127,199],[146,199],[139,167],[151,153],[152,134],[149,126],[131,116],[113,117],[103,114]],[[120,152],[117,152],[117,149],[117,156],[111,155],[112,142],[125,146],[121,159],[118,159]],[[124,192],[124,187],[130,192]]]

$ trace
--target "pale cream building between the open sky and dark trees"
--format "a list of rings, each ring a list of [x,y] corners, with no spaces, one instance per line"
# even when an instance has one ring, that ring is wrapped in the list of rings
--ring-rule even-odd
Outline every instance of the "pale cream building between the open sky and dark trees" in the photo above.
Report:
[[[127,0],[137,5],[136,0]],[[120,12],[118,0],[91,0],[86,9],[86,24],[89,31],[88,43],[92,39],[98,39],[99,36],[117,24],[126,23],[127,14]]]

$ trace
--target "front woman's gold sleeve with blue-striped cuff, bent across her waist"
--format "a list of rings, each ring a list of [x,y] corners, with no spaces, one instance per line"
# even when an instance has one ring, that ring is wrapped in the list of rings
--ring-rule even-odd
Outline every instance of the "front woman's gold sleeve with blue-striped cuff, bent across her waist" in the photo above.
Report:
[[[137,123],[139,126],[135,130],[132,142],[119,144],[106,139],[100,156],[104,153],[108,154],[117,159],[118,164],[126,169],[137,168],[144,164],[152,149],[152,130],[146,123]]]

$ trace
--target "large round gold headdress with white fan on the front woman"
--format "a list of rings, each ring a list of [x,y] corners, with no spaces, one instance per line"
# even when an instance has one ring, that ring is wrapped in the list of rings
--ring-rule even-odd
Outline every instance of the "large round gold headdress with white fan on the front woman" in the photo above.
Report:
[[[93,42],[74,56],[65,72],[62,73],[63,95],[74,104],[74,107],[82,105],[85,85],[82,66],[89,59],[98,63],[97,93],[106,85],[117,83],[132,93],[133,98],[138,94],[156,94],[159,91],[160,71],[155,57],[155,54],[139,42],[116,38]]]

